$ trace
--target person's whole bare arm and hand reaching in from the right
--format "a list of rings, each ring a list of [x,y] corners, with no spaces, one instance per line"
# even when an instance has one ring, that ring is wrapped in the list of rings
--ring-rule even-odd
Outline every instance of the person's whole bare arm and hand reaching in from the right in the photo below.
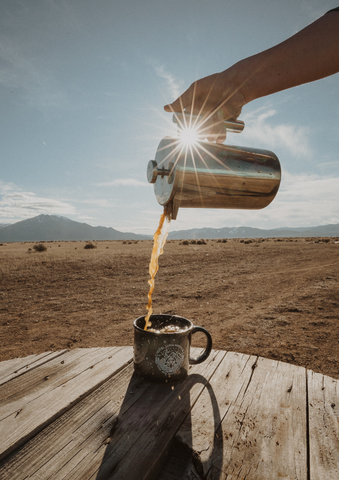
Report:
[[[207,138],[222,143],[223,120],[237,118],[247,103],[337,72],[339,11],[331,11],[275,47],[194,82],[164,108],[204,116]]]

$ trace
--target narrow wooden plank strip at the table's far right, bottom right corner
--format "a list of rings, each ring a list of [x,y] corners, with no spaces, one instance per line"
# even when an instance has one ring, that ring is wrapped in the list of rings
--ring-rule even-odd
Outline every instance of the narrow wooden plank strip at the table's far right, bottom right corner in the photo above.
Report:
[[[310,480],[339,478],[339,381],[307,372]]]

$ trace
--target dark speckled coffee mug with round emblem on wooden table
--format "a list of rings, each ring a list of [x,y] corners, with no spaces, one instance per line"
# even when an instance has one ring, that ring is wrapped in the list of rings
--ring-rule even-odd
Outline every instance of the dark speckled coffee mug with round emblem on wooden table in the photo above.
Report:
[[[212,350],[212,337],[207,330],[193,325],[177,315],[152,315],[151,329],[144,330],[145,317],[134,325],[134,371],[148,380],[168,382],[181,380],[188,374],[190,364],[201,363]],[[171,332],[168,326],[176,327]],[[168,332],[161,330],[168,328]],[[160,331],[160,332],[159,332]],[[197,358],[190,357],[191,337],[202,332],[207,337],[206,349]]]

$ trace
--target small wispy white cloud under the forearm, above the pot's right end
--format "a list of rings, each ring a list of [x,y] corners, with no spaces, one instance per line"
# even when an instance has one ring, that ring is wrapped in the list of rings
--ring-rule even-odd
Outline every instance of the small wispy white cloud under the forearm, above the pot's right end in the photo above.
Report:
[[[295,157],[306,157],[312,154],[307,127],[291,124],[275,124],[270,119],[276,115],[272,108],[260,108],[244,114],[242,119],[246,128],[242,140],[250,141],[252,145],[265,145],[266,148],[283,147]]]

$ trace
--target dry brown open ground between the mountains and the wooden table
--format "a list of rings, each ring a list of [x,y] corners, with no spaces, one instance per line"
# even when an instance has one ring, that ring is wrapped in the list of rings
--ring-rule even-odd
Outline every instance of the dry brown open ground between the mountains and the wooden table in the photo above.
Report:
[[[335,239],[169,241],[154,313],[207,328],[214,348],[339,378]],[[338,239],[337,239],[338,240]],[[74,347],[131,345],[144,315],[151,241],[0,245],[0,361]],[[29,251],[31,249],[31,251]],[[202,341],[198,339],[198,343]]]

